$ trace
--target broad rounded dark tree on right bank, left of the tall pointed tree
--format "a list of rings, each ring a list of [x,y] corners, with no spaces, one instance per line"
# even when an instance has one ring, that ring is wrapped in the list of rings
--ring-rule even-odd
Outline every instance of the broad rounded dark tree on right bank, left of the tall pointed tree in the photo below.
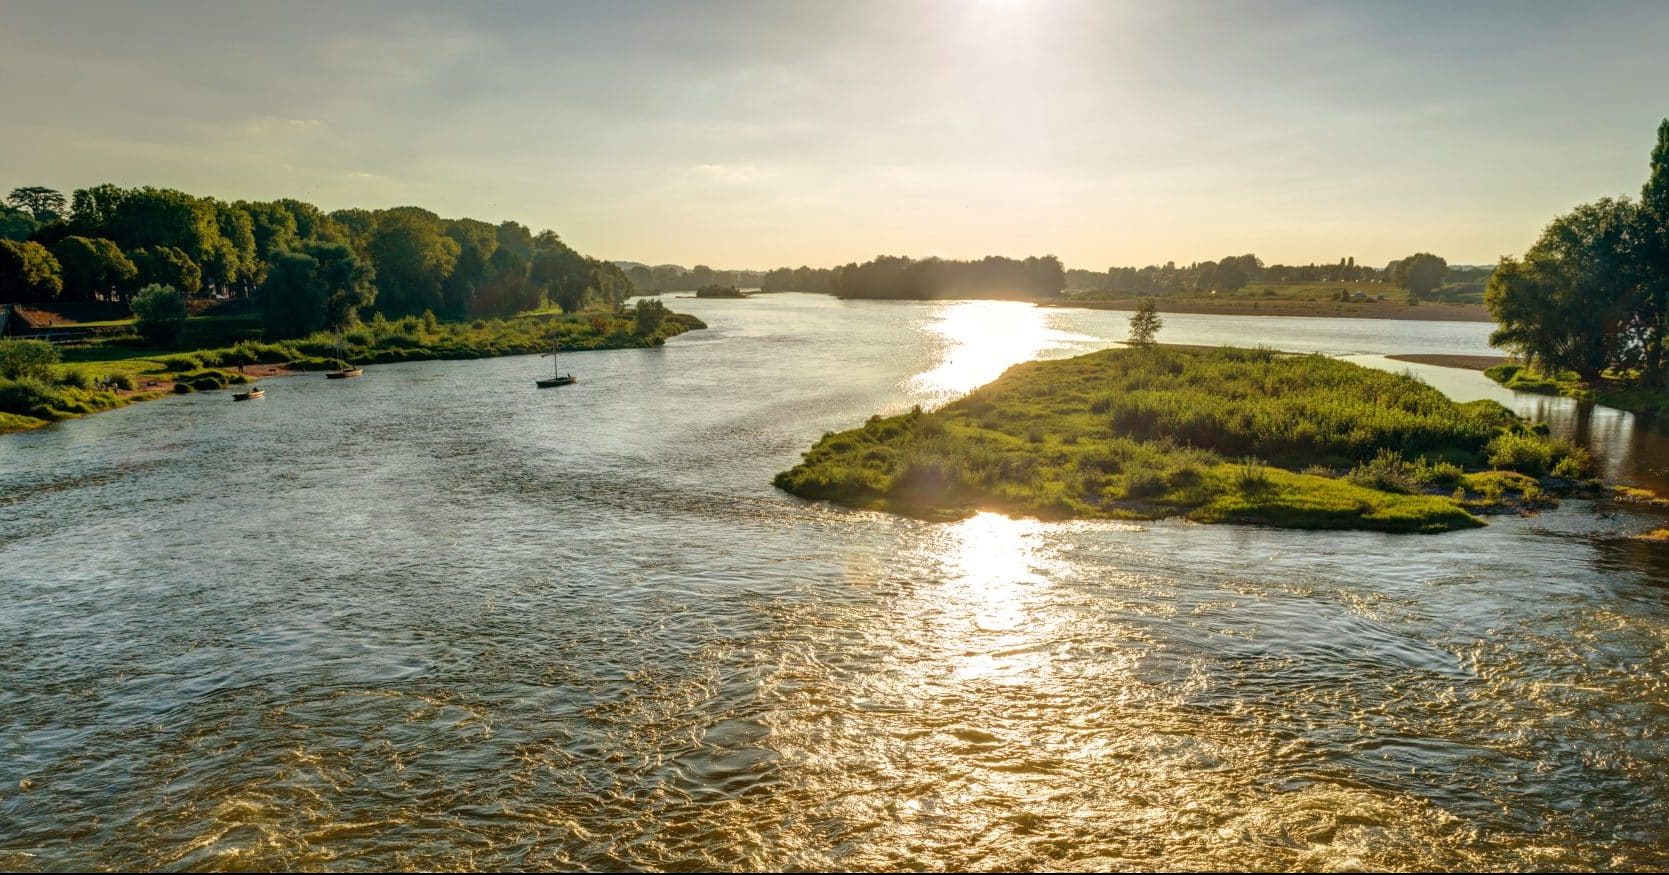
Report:
[[[1639,207],[1627,199],[1582,204],[1554,219],[1522,260],[1500,259],[1484,304],[1507,347],[1545,371],[1597,381],[1624,364],[1637,306]]]

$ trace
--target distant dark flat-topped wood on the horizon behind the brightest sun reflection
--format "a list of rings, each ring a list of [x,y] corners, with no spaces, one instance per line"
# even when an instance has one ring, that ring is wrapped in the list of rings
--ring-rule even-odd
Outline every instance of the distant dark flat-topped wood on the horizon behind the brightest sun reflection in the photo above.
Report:
[[[863,264],[836,267],[829,291],[838,297],[881,299],[1038,299],[1056,297],[1066,287],[1066,271],[1055,255],[980,260],[908,259],[880,255]]]

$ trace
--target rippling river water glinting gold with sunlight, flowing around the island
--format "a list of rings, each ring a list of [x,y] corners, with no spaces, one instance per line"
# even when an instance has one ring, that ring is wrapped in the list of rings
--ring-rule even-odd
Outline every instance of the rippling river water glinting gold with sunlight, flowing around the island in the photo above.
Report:
[[[669,304],[713,327],[566,357],[559,391],[536,357],[414,362],[0,441],[0,868],[1669,867],[1669,558],[1627,538],[1661,519],[808,504],[769,479],[824,431],[1128,314]],[[1669,463],[1626,414],[1415,371],[1619,476]]]

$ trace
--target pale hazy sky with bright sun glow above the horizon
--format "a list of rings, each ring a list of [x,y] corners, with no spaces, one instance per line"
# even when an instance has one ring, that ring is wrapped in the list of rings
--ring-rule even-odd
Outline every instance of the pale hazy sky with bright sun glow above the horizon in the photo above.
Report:
[[[1452,264],[1636,195],[1669,3],[0,0],[0,189],[414,204],[649,264]]]

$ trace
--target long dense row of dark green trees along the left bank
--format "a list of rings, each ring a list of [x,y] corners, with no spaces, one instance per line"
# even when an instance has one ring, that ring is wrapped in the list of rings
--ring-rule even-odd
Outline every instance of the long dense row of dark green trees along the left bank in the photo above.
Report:
[[[399,317],[574,311],[631,294],[626,274],[554,232],[419,207],[324,212],[294,199],[217,200],[95,185],[12,190],[0,212],[0,301],[130,301],[147,287],[255,297],[285,332]]]

